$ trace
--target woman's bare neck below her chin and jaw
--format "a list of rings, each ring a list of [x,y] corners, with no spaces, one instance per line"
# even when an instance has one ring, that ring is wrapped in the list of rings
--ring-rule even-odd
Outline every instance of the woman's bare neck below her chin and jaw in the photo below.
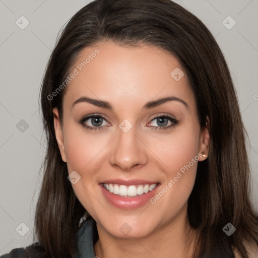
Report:
[[[192,257],[196,231],[187,223],[187,204],[180,214],[141,238],[116,238],[97,224],[99,239],[94,249],[100,258],[113,257]]]

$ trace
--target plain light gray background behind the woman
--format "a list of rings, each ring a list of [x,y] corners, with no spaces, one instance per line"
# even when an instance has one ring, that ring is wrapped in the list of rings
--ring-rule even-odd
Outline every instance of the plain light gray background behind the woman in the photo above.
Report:
[[[252,169],[252,203],[258,211],[258,1],[175,2],[206,24],[216,36],[228,62],[250,139],[247,147]],[[2,254],[32,242],[34,211],[41,182],[39,169],[45,152],[38,109],[40,83],[59,29],[87,3],[89,1],[0,0]],[[21,16],[29,21],[24,30],[16,25]],[[236,21],[236,25],[230,30],[222,23],[228,16]],[[233,24],[232,20],[226,19],[225,22],[228,23],[227,26]],[[26,125],[21,127],[24,125],[24,121],[20,122],[22,119],[29,125],[28,128]],[[26,230],[24,225],[19,226],[22,222],[30,229],[25,236],[19,234]]]

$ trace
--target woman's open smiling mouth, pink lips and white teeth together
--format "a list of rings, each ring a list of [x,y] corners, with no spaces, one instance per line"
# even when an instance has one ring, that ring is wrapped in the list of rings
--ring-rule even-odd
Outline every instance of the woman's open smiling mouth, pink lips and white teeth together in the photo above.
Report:
[[[160,187],[159,182],[120,183],[105,182],[99,186],[106,201],[122,210],[132,210],[147,205]]]

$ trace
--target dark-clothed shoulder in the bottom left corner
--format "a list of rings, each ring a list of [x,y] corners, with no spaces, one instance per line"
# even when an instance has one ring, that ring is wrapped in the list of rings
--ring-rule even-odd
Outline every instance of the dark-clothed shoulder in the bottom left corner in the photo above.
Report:
[[[49,258],[39,243],[33,243],[26,248],[15,248],[0,258]]]

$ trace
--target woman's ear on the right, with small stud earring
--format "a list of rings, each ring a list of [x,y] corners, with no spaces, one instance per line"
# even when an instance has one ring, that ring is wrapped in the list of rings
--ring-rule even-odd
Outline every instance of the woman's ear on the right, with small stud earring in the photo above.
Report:
[[[209,117],[206,117],[206,125],[202,128],[200,141],[199,141],[199,161],[203,161],[208,158],[209,155],[209,146],[210,146],[210,120]]]

